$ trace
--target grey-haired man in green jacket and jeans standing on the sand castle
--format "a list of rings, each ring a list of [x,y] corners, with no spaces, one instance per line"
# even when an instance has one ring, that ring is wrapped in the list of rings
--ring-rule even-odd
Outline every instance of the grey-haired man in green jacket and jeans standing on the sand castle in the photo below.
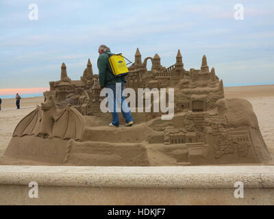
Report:
[[[130,113],[127,102],[125,101],[125,96],[122,95],[125,88],[125,82],[127,81],[123,76],[115,77],[113,75],[110,63],[108,62],[109,55],[112,54],[110,52],[110,48],[105,45],[101,45],[98,49],[98,52],[100,54],[97,60],[100,88],[110,88],[113,92],[112,94],[108,94],[107,96],[108,106],[110,107],[110,111],[112,112],[112,122],[110,123],[110,127],[119,127],[118,107],[121,108],[121,112],[123,114],[123,117],[125,118],[125,126],[132,126],[132,114]],[[118,107],[116,106],[116,103],[118,103]]]

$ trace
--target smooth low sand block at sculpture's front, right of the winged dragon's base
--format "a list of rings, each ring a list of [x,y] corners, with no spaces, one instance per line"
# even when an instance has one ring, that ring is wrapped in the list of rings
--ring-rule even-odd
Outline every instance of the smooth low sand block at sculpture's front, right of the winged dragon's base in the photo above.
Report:
[[[65,165],[150,166],[145,145],[140,143],[69,142]]]

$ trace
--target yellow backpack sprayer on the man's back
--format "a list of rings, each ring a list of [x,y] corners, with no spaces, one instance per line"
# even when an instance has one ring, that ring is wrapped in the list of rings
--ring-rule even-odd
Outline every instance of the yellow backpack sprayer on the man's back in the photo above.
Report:
[[[109,55],[108,62],[110,62],[110,67],[111,67],[112,73],[115,77],[119,77],[122,75],[124,76],[124,75],[129,74],[127,64],[130,64],[132,62],[127,60],[127,61],[129,61],[129,63],[126,64],[125,59],[127,60],[126,57],[123,57],[122,53]]]

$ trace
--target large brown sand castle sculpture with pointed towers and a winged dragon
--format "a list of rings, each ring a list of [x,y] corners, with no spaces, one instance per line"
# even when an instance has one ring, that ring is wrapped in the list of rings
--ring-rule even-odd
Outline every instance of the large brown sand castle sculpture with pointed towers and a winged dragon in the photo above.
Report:
[[[126,86],[175,88],[173,119],[136,112],[133,127],[108,127],[110,113],[100,110],[103,97],[90,60],[79,81],[68,77],[63,63],[60,81],[49,82],[45,103],[18,123],[4,157],[76,166],[260,164],[270,159],[251,103],[225,99],[223,81],[214,68],[209,70],[206,55],[200,69],[185,70],[180,51],[169,68],[160,61],[158,54],[142,61],[137,49]]]

